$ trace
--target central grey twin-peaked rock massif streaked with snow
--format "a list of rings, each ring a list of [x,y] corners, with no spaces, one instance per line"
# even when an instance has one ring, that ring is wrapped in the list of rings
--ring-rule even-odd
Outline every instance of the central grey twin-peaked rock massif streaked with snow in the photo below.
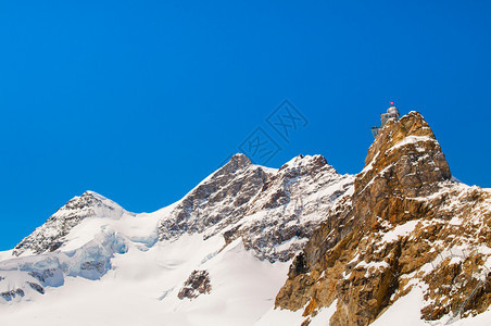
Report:
[[[288,261],[352,188],[353,176],[339,175],[320,155],[299,155],[276,171],[236,154],[161,220],[160,239],[241,237],[260,259]]]

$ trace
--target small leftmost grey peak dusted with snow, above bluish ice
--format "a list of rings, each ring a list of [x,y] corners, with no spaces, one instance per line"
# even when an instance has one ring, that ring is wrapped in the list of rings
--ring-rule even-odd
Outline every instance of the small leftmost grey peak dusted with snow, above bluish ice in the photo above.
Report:
[[[80,197],[70,200],[59,209],[40,227],[15,246],[12,254],[21,255],[28,251],[40,254],[58,250],[64,243],[64,237],[80,223],[92,217],[118,218],[123,214],[133,214],[123,210],[118,204],[93,191],[86,191]]]

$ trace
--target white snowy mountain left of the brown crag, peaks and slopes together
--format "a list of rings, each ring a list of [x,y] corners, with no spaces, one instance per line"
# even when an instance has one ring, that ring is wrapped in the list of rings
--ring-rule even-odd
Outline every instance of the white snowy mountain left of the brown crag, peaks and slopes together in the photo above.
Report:
[[[5,322],[15,321],[16,311],[33,303],[54,309],[67,302],[68,289],[81,286],[97,288],[84,303],[96,311],[101,304],[95,296],[123,306],[144,298],[144,309],[155,306],[155,318],[172,315],[186,324],[181,315],[204,301],[230,309],[210,321],[241,316],[236,324],[250,325],[272,306],[288,262],[330,208],[351,195],[353,180],[320,155],[299,155],[273,170],[236,154],[181,200],[154,213],[130,213],[87,191],[0,261],[0,310],[10,312]],[[101,294],[106,287],[111,290]],[[30,312],[27,319],[52,325],[51,314]],[[77,321],[93,323],[86,315]]]

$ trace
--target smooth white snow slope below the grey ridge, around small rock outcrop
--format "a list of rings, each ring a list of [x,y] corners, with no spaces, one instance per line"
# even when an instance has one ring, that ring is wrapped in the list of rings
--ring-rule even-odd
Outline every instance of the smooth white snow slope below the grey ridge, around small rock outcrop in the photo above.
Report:
[[[130,244],[101,279],[66,277],[32,301],[1,304],[0,325],[252,325],[273,305],[288,263],[262,262],[240,240],[217,253],[223,246],[199,235],[147,251]],[[209,271],[211,293],[179,300],[197,268]]]

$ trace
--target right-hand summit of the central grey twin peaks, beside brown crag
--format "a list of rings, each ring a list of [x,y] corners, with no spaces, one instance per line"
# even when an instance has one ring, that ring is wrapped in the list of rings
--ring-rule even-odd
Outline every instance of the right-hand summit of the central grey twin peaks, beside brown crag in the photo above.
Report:
[[[322,155],[299,155],[264,185],[241,223],[227,231],[227,240],[241,237],[260,259],[288,261],[329,209],[351,195],[353,179],[339,175]]]

